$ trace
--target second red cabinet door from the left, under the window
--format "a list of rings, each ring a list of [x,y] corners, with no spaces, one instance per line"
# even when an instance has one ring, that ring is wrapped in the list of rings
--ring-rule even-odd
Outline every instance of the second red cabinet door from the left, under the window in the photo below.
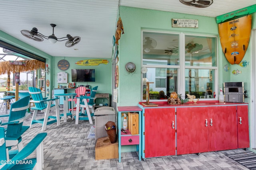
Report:
[[[208,151],[206,119],[207,107],[177,107],[177,154]]]

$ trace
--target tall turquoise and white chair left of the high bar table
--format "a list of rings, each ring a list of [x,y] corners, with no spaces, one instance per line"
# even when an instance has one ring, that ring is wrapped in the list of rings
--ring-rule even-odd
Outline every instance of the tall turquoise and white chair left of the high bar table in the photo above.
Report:
[[[42,131],[46,129],[46,125],[57,122],[57,126],[60,125],[60,107],[58,104],[59,98],[53,99],[44,99],[42,92],[39,88],[28,87],[29,93],[32,96],[31,103],[34,103],[35,106],[31,107],[31,110],[34,110],[30,128],[34,127],[35,123],[42,123]],[[55,101],[55,104],[52,104],[52,101]],[[49,116],[50,110],[55,109],[56,116]],[[37,112],[44,112],[43,119],[36,119]]]

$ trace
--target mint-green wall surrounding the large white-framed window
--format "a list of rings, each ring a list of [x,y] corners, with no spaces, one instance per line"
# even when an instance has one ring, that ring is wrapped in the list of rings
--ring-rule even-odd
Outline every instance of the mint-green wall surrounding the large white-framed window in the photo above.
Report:
[[[218,24],[216,18],[195,16],[187,14],[178,14],[172,12],[162,12],[155,10],[145,10],[139,8],[120,7],[120,17],[124,25],[124,34],[119,40],[119,87],[118,87],[118,106],[137,106],[141,101],[141,30],[152,31],[170,31],[194,33],[202,35],[218,36]],[[195,19],[198,20],[198,28],[172,28],[172,18]],[[252,14],[252,29],[256,28],[255,14]],[[252,65],[252,47],[251,40],[244,59],[250,64],[246,68],[234,64],[231,65],[226,60],[218,37],[218,88],[223,87],[223,82],[244,82],[244,87],[248,91],[248,98],[245,102],[250,103],[250,84],[251,84],[251,65]],[[128,74],[125,70],[125,64],[133,62],[136,64],[136,72]],[[225,72],[223,67],[228,64],[230,70]],[[241,70],[238,75],[232,74],[233,70]],[[250,106],[249,106],[250,109]],[[250,113],[250,111],[249,111]],[[136,150],[132,147],[122,147],[122,152]]]

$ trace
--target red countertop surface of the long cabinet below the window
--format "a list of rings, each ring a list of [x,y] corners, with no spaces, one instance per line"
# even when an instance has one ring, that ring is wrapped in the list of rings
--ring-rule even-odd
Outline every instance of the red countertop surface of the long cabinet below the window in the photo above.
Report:
[[[146,103],[146,102],[139,102],[141,107],[146,107],[146,106],[142,105],[142,103]],[[157,107],[234,106],[234,105],[244,105],[244,104],[248,105],[248,103],[228,103],[228,102],[221,103],[221,102],[218,102],[218,100],[198,101],[196,103],[187,102],[187,103],[180,104],[180,105],[171,105],[171,104],[168,104],[167,101],[166,102],[150,102],[150,103],[158,105]]]

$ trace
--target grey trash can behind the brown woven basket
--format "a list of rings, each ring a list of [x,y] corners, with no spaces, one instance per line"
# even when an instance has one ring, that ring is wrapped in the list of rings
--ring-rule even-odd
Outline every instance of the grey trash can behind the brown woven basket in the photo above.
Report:
[[[102,137],[107,137],[108,134],[105,125],[108,121],[116,123],[116,111],[113,107],[98,107],[94,112],[95,120],[95,144]]]

